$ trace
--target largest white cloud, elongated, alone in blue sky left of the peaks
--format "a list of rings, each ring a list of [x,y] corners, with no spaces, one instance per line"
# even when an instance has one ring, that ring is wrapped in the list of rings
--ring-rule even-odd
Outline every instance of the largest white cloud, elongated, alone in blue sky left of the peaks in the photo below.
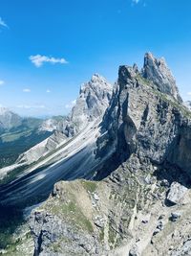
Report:
[[[52,64],[60,63],[60,64],[67,64],[68,61],[65,58],[53,58],[41,55],[31,56],[30,60],[36,67],[41,67],[45,62],[49,62]]]

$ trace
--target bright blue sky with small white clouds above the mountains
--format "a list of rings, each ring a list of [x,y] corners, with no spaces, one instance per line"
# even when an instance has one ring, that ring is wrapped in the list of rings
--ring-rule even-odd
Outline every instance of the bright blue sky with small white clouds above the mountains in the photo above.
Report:
[[[0,105],[66,114],[94,73],[117,80],[145,52],[167,60],[191,100],[190,0],[1,0]]]

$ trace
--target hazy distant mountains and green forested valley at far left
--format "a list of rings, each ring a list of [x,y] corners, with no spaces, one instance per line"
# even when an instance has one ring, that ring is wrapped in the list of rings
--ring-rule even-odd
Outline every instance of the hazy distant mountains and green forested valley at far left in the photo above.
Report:
[[[0,107],[0,168],[10,165],[22,152],[53,134],[61,120],[64,117],[22,118],[8,108]]]

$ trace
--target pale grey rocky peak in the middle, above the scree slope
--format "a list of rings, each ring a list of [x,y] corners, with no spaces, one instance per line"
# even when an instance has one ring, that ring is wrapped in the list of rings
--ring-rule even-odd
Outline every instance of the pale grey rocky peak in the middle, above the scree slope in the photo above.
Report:
[[[63,123],[64,134],[67,137],[74,136],[88,124],[102,117],[110,103],[112,89],[112,85],[98,74],[95,74],[91,81],[83,83],[72,113]]]

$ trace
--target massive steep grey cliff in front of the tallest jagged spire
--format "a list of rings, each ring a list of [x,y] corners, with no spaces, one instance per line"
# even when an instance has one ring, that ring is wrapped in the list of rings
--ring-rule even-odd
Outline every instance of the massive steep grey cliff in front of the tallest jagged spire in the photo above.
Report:
[[[98,139],[97,152],[116,149],[119,163],[136,153],[139,159],[147,158],[157,165],[171,162],[188,173],[191,114],[174,95],[159,91],[150,79],[132,67],[119,68],[116,91],[103,119],[102,128],[107,132]]]

